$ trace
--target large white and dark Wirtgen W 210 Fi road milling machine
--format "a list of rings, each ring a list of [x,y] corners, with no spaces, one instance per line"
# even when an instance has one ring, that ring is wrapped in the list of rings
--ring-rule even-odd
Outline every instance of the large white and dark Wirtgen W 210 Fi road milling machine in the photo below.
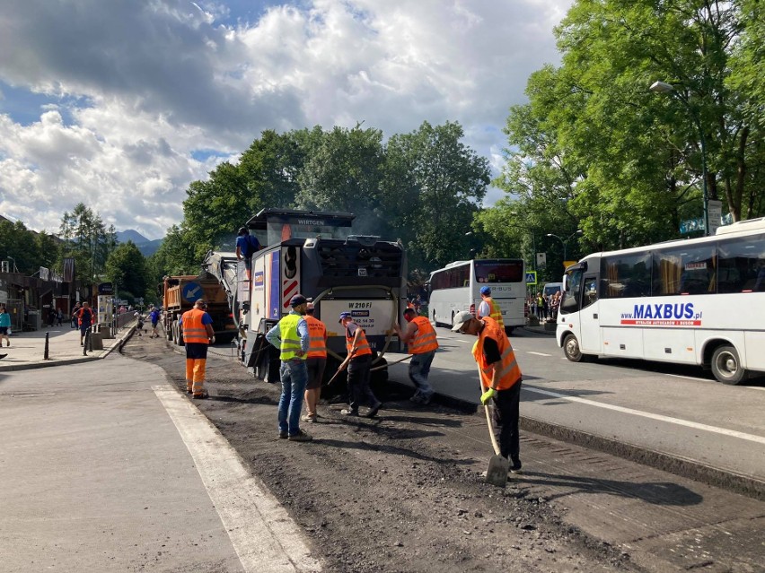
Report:
[[[365,329],[373,367],[384,367],[385,352],[400,351],[393,325],[403,324],[406,308],[406,253],[399,241],[354,234],[354,219],[352,213],[264,209],[247,221],[266,246],[252,256],[240,317],[240,359],[257,378],[278,380],[279,352],[265,334],[289,314],[297,293],[313,301],[314,317],[327,326],[328,374],[346,355],[342,311]],[[242,268],[240,276],[246,277]],[[375,378],[387,379],[387,369],[376,370]]]

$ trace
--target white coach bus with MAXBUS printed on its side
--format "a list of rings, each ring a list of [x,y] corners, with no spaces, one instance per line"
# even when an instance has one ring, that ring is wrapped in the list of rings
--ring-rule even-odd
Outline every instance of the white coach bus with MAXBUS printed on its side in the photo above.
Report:
[[[563,282],[556,335],[568,360],[696,364],[725,384],[765,372],[765,218],[585,256]]]

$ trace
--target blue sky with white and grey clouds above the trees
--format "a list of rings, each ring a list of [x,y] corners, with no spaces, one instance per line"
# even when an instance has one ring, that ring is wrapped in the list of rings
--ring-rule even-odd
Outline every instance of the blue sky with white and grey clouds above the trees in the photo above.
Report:
[[[362,121],[457,121],[497,175],[572,1],[4,0],[0,214],[56,233],[82,202],[159,239],[264,130]]]

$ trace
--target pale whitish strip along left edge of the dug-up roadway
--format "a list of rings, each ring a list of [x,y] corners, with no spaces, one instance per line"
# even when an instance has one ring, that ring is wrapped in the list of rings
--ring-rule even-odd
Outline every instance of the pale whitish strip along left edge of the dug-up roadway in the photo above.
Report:
[[[171,386],[152,386],[189,448],[247,573],[321,571],[303,532],[221,433]]]

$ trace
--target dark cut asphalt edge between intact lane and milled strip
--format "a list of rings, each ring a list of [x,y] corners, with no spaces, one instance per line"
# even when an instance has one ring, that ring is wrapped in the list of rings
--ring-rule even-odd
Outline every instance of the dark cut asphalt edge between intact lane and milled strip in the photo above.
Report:
[[[411,389],[410,386],[398,382],[391,382],[390,384]],[[434,398],[435,403],[460,410],[461,412],[478,412],[479,409],[478,404],[472,404],[453,396],[436,394]],[[611,438],[603,438],[602,436],[596,436],[582,430],[566,428],[565,426],[536,420],[528,416],[521,415],[519,425],[521,430],[530,431],[539,436],[558,439],[562,442],[575,444],[576,446],[588,447],[604,454],[621,457],[637,464],[647,465],[657,470],[689,478],[695,482],[706,483],[749,498],[765,501],[765,482],[751,475],[735,473],[730,470],[702,464],[696,460],[674,456],[673,454],[651,450]]]

